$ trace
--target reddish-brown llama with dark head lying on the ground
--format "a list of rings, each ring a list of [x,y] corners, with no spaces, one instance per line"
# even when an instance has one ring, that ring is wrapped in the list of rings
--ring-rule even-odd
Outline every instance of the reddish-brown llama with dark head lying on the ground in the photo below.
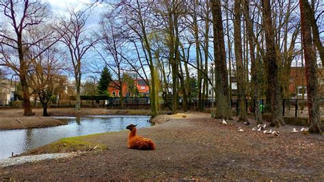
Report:
[[[129,140],[128,146],[129,148],[139,149],[139,150],[154,150],[155,145],[152,140],[148,138],[144,138],[136,135],[136,126],[137,125],[129,125],[126,129],[129,129]]]

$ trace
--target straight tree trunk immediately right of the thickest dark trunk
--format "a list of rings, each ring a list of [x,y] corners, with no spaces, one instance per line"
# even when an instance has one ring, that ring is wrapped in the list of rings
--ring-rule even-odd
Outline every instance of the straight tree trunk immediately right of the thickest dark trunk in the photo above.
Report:
[[[242,59],[242,38],[241,38],[241,0],[235,0],[234,4],[234,51],[237,62],[237,98],[239,99],[239,122],[247,121],[245,106],[245,77]]]

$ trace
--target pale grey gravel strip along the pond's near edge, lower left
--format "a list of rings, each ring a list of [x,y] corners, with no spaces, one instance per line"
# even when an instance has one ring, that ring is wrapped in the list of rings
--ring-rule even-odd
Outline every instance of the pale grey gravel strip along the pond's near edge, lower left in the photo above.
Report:
[[[17,164],[24,164],[27,162],[42,161],[46,159],[60,159],[64,157],[76,156],[77,153],[47,153],[41,155],[27,155],[22,157],[12,157],[8,159],[1,159],[0,166],[13,166]]]

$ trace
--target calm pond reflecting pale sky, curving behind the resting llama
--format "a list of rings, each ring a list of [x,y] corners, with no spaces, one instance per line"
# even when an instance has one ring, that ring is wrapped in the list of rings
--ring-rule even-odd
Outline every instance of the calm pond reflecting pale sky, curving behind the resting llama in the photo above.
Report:
[[[49,144],[60,138],[107,131],[122,131],[130,124],[137,128],[150,127],[150,116],[83,116],[54,117],[68,121],[68,125],[35,129],[0,131],[0,159],[24,153],[30,149]]]

